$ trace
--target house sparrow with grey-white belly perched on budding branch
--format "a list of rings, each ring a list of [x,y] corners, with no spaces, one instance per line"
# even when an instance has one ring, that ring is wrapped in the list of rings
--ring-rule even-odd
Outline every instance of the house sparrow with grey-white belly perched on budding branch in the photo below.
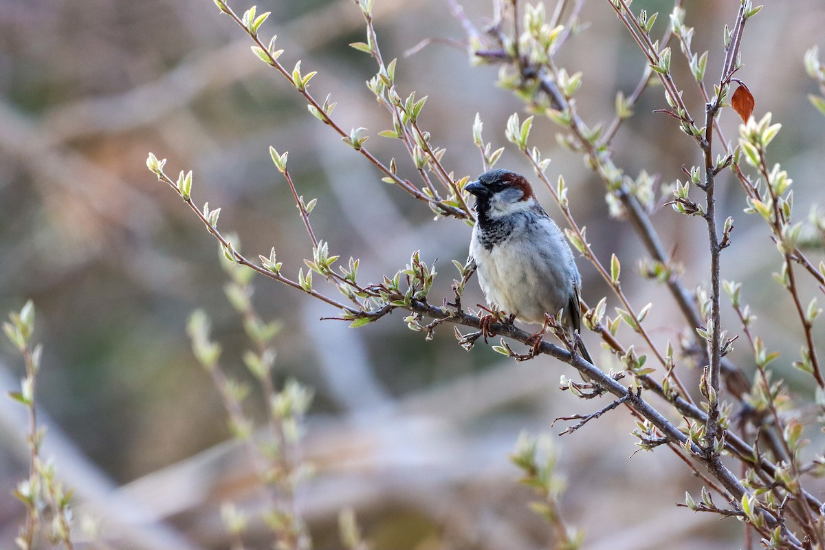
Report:
[[[490,170],[464,189],[476,197],[478,219],[469,254],[487,302],[543,326],[545,313],[554,316],[563,309],[563,327],[592,364],[581,339],[573,335],[582,327],[582,277],[567,239],[535,199],[530,183],[507,170]]]

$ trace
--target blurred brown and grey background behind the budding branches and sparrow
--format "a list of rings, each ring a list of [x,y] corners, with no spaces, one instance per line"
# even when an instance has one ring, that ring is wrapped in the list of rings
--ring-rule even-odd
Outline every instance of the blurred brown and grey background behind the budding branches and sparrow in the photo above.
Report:
[[[719,78],[724,24],[733,23],[738,4],[687,6],[694,49],[710,49],[708,82]],[[238,13],[248,7],[231,5]],[[671,3],[637,0],[634,8],[660,12],[654,34],[662,34]],[[479,28],[493,13],[490,2],[466,2],[464,10]],[[348,47],[365,40],[358,7],[347,0],[261,0],[258,12],[264,11],[272,16],[262,34],[278,35],[281,62],[291,67],[301,59],[304,72],[317,70],[314,96],[332,93],[339,124],[368,129],[370,150],[384,162],[398,157],[412,179],[399,144],[377,136],[391,122],[364,84],[375,64]],[[582,21],[589,27],[560,60],[570,73],[582,71],[577,105],[595,125],[612,118],[615,93],[632,92],[644,63],[606,2],[587,2]],[[495,85],[497,68],[471,66],[456,47],[464,32],[443,0],[375,0],[375,24],[384,59],[399,58],[401,95],[429,96],[421,122],[446,147],[446,167],[459,177],[478,175],[475,114],[485,139],[504,146],[505,122],[523,110],[520,101]],[[756,97],[754,115],[770,110],[783,124],[771,159],[794,178],[796,219],[822,197],[825,119],[808,103],[817,87],[802,60],[811,46],[825,46],[823,28],[818,0],[769,4],[747,23],[738,73]],[[438,40],[405,56],[427,39]],[[393,274],[420,250],[440,272],[431,297],[449,299],[456,276],[450,260],[467,256],[467,225],[433,222],[425,204],[381,182],[374,167],[309,115],[251,44],[209,0],[0,0],[0,310],[35,302],[35,340],[45,345],[37,395],[49,425],[45,454],[77,487],[78,515],[99,518],[103,538],[118,548],[228,548],[219,505],[243,503],[253,492],[243,480],[243,455],[223,443],[223,406],[185,333],[189,313],[205,308],[224,346],[224,367],[243,379],[243,328],[224,296],[227,276],[214,238],[148,172],[149,151],[168,159],[170,176],[194,172],[196,202],[222,208],[219,227],[238,233],[248,257],[276,247],[292,276],[310,242],[270,145],[289,150],[299,193],[318,198],[316,233],[331,253],[361,258],[363,280]],[[673,59],[688,105],[701,112],[676,48]],[[625,172],[646,169],[667,184],[682,177],[683,164],[700,159],[672,120],[651,112],[663,107],[658,87],[648,89],[614,143]],[[735,139],[738,118],[725,111],[722,124]],[[530,135],[553,159],[550,181],[565,177],[573,213],[602,262],[610,253],[620,258],[631,301],[638,308],[654,303],[647,322],[654,336],[676,341],[692,329],[662,288],[633,273],[645,257],[638,237],[627,223],[609,219],[601,181],[556,144],[554,131],[537,120]],[[530,172],[510,146],[498,166]],[[780,256],[767,229],[742,214],[738,184],[725,173],[720,186],[719,219],[736,221],[723,276],[743,282],[742,299],[759,317],[755,333],[784,353],[778,375],[809,394],[806,379],[790,368],[803,342],[793,303],[771,278]],[[558,214],[549,193],[539,194]],[[666,200],[657,199],[653,222],[693,289],[708,271],[705,225],[658,206]],[[818,252],[811,254],[818,262]],[[596,303],[606,286],[592,266],[579,266],[584,298]],[[259,313],[283,323],[277,381],[297,378],[315,391],[305,454],[316,475],[299,491],[299,505],[318,548],[338,548],[337,511],[347,505],[375,548],[546,546],[549,528],[527,509],[530,491],[518,486],[519,472],[507,459],[521,430],[553,435],[559,474],[568,480],[563,513],[584,531],[587,548],[741,547],[738,522],[674,506],[686,488],[700,485],[672,454],[631,458],[634,422],[625,411],[556,436],[563,426],[550,427],[555,417],[606,404],[560,392],[559,376],[571,374],[565,365],[549,358],[515,364],[487,346],[467,353],[447,326],[426,342],[398,313],[350,330],[320,321],[337,314],[322,303],[269,280],[254,282]],[[807,301],[815,288],[805,292]],[[465,303],[481,302],[472,281]],[[609,296],[609,313],[615,305]],[[727,305],[723,315],[737,332]],[[592,335],[585,339],[598,350]],[[733,360],[751,372],[746,346],[738,347]],[[603,368],[613,361],[601,360]],[[3,341],[2,386],[13,388],[21,373],[20,358]],[[682,378],[695,380],[695,369],[686,366]],[[261,416],[256,397],[248,405]],[[27,470],[21,409],[7,399],[0,407],[3,548],[12,547],[22,517],[10,496]],[[266,538],[252,538],[250,547],[266,548]]]

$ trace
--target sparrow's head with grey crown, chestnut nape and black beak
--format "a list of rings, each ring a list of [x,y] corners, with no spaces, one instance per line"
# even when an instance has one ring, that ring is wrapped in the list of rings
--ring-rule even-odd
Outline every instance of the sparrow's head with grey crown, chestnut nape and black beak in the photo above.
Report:
[[[497,219],[533,207],[535,195],[530,182],[507,170],[490,170],[471,181],[464,190],[475,195],[479,218]]]

